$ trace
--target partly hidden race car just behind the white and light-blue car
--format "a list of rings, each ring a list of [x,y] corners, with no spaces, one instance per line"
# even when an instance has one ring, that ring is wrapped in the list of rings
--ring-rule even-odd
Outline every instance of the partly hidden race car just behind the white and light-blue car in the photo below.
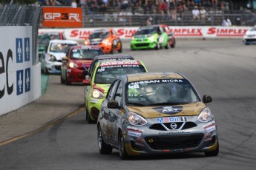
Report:
[[[42,55],[42,52],[45,50],[45,45],[49,43],[50,40],[59,39],[65,40],[67,39],[64,32],[40,32],[38,34],[38,47],[39,47],[39,58]]]

